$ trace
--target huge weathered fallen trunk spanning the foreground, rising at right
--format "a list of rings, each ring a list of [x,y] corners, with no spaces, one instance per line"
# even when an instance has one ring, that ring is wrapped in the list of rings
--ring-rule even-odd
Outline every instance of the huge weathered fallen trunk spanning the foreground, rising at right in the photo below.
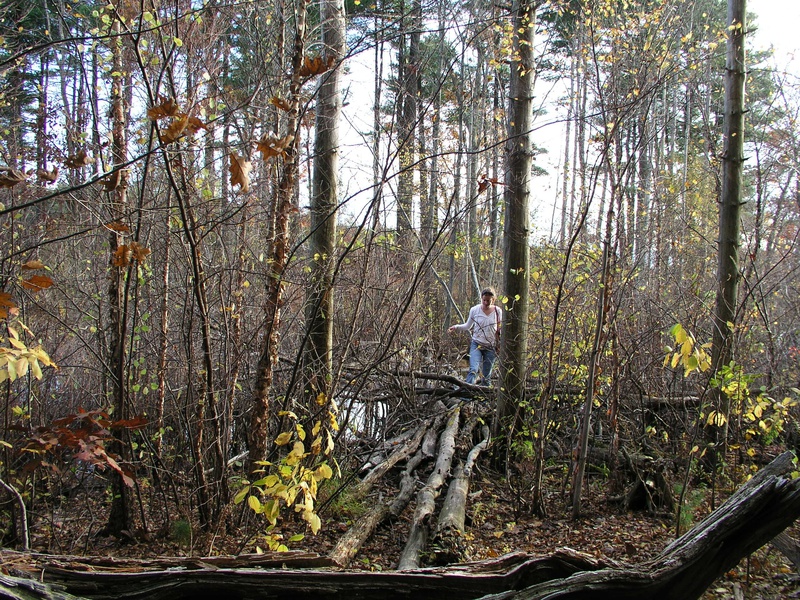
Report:
[[[488,597],[601,600],[691,600],[739,560],[766,544],[800,516],[800,479],[791,454],[783,454],[742,486],[702,523],[671,543],[658,557],[638,565],[601,562],[575,552],[548,558],[524,555],[501,561],[405,573],[308,570],[268,566],[270,559],[166,559],[152,571],[89,570],[102,568],[83,559],[82,566],[58,557],[15,553],[14,572],[26,571],[68,593],[97,600],[179,600],[181,598],[395,598],[448,600]],[[7,553],[2,553],[8,565]],[[27,557],[28,567],[23,568]],[[295,566],[291,555],[272,557],[275,565]],[[132,561],[127,561],[133,564]],[[141,561],[143,564],[144,561]],[[258,568],[258,567],[261,568]],[[14,596],[0,583],[0,597]],[[488,596],[487,596],[488,595]],[[42,596],[47,597],[47,596]]]

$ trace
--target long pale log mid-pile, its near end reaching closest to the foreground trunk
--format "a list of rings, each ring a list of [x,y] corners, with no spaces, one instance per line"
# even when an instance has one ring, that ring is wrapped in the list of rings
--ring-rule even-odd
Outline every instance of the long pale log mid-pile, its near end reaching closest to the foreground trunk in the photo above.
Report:
[[[414,511],[414,520],[408,533],[406,545],[400,555],[397,568],[401,571],[419,567],[419,555],[428,541],[430,519],[436,508],[436,498],[439,495],[445,479],[450,473],[450,464],[456,448],[456,432],[458,420],[461,415],[460,407],[452,409],[439,441],[439,454],[436,464],[428,482],[417,494],[417,506]]]

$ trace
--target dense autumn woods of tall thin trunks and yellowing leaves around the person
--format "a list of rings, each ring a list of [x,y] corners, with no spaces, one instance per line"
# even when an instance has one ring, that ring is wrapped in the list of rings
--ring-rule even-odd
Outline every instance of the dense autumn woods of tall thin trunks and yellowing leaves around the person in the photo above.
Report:
[[[2,545],[284,549],[396,447],[520,513],[587,464],[716,507],[800,400],[800,88],[737,4],[6,2]],[[491,388],[446,333],[485,285]]]

